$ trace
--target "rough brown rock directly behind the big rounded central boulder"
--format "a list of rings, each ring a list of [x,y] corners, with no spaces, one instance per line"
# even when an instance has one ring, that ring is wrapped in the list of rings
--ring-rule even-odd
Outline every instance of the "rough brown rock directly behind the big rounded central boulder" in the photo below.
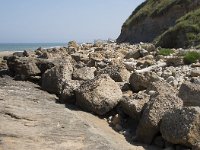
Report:
[[[98,70],[96,74],[108,74],[115,82],[128,81],[130,77],[130,72],[121,66],[109,66]]]

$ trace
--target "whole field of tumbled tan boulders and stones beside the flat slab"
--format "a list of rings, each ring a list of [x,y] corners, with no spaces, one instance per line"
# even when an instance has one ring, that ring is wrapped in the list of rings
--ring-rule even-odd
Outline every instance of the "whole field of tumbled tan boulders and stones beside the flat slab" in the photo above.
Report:
[[[68,47],[5,56],[1,72],[39,85],[55,94],[58,103],[99,116],[133,147],[142,143],[166,150],[199,150],[198,56],[197,49],[162,49],[147,43],[71,41]]]

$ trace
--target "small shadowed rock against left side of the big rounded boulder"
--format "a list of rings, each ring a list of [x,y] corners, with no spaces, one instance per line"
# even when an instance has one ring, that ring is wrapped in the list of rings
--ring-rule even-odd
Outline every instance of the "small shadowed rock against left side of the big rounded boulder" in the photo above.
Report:
[[[75,90],[80,87],[81,82],[78,80],[67,80],[63,83],[59,101],[61,103],[75,103]]]

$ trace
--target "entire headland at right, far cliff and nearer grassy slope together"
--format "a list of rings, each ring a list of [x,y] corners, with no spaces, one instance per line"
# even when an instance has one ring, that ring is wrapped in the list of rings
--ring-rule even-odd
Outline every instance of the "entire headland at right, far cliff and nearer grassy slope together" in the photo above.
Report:
[[[146,0],[125,21],[117,42],[156,41],[158,46],[170,48],[197,46],[200,44],[199,19],[191,20],[198,18],[193,11],[199,7],[198,0]],[[184,15],[186,21],[180,25],[177,20]],[[197,25],[196,28],[193,25]],[[190,36],[187,33],[191,33]]]

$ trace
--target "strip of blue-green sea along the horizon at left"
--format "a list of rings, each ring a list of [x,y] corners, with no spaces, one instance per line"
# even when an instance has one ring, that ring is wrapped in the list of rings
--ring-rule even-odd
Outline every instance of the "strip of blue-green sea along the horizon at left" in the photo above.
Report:
[[[66,46],[67,43],[0,43],[1,51],[24,51],[36,50],[39,47],[52,48]]]

